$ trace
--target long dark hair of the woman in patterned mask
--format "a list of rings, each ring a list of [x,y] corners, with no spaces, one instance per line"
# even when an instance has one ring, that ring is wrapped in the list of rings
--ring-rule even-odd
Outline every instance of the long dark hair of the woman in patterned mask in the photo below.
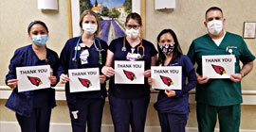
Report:
[[[173,52],[173,58],[172,58],[172,63],[176,62],[178,58],[182,55],[182,50],[180,48],[179,42],[177,40],[177,37],[172,29],[163,29],[157,36],[157,49],[159,52],[158,60],[157,60],[157,65],[159,64],[164,64],[164,61],[166,59],[165,55],[163,54],[162,50],[160,49],[160,46],[158,42],[160,41],[160,38],[163,34],[170,33],[173,38],[174,38],[174,52]]]

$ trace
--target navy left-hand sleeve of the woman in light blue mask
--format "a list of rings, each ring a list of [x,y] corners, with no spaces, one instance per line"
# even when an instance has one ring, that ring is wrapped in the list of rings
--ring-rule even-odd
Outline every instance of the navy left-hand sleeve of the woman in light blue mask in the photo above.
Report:
[[[8,80],[10,79],[16,79],[16,67],[21,67],[22,66],[22,61],[23,61],[23,52],[21,49],[16,50],[14,52],[13,57],[10,59],[9,62],[9,73],[6,75],[6,84],[8,84]]]

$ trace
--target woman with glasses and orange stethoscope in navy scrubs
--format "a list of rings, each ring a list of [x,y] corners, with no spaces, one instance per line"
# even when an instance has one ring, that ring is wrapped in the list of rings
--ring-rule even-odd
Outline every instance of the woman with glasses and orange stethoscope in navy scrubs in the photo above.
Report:
[[[130,125],[133,132],[144,131],[150,101],[150,86],[147,78],[150,76],[151,66],[155,65],[157,52],[153,43],[140,38],[141,26],[141,17],[137,13],[130,13],[126,17],[126,36],[110,43],[107,61],[102,68],[103,74],[111,76],[109,103],[116,132],[129,132]],[[137,48],[138,46],[140,48]],[[145,61],[145,83],[143,85],[115,84],[113,76],[115,60]]]

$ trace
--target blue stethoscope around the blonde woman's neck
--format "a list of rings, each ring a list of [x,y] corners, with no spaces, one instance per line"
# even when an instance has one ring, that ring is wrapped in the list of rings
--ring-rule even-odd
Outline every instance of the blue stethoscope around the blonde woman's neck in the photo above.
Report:
[[[79,38],[79,40],[77,41],[77,45],[76,45],[76,47],[75,47],[75,55],[74,55],[74,58],[72,58],[72,61],[74,61],[74,62],[77,61],[78,50],[80,50],[80,48],[81,48],[81,47],[79,46],[79,42],[81,41],[81,38],[82,38],[82,37]],[[98,48],[98,47],[96,46],[95,41],[98,41],[100,48]],[[95,37],[95,38],[93,39],[93,44],[94,44],[94,47],[95,47],[96,51],[99,52],[99,64],[102,64],[101,51],[104,51],[104,49],[101,48],[101,41],[100,41],[98,38]]]

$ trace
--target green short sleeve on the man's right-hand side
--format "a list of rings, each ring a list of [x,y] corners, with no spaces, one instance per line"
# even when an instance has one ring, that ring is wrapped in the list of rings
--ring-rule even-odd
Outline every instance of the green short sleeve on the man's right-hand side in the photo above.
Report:
[[[246,64],[247,62],[253,61],[255,57],[251,54],[247,47],[247,43],[241,38],[242,41],[242,56],[240,57],[240,60],[243,62],[243,64]]]

